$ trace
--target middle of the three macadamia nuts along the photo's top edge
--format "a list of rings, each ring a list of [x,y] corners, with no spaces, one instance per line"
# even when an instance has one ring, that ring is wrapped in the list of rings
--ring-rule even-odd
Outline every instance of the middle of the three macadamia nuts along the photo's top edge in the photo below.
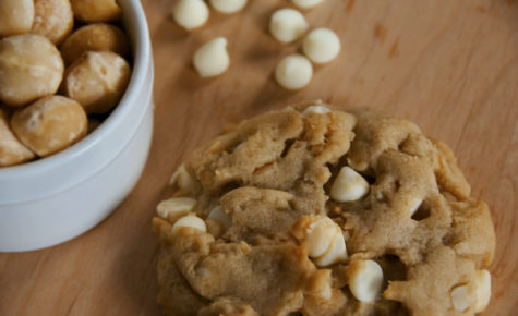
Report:
[[[43,35],[59,45],[74,26],[74,13],[69,0],[34,0],[32,34]]]

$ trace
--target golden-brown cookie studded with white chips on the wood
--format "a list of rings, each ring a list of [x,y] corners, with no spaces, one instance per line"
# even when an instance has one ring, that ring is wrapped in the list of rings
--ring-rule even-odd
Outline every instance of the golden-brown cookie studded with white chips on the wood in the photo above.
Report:
[[[166,315],[473,315],[495,233],[451,150],[322,102],[195,150],[157,206]]]

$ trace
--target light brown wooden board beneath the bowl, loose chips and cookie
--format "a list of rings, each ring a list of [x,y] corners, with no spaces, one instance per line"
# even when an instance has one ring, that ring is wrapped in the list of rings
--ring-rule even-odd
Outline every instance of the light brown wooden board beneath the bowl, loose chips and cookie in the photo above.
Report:
[[[0,315],[160,315],[156,306],[155,205],[171,172],[228,123],[289,102],[323,99],[369,106],[417,122],[456,153],[487,202],[497,233],[493,297],[483,315],[517,315],[518,305],[518,1],[327,0],[308,11],[344,51],[290,93],[273,81],[277,61],[300,50],[266,32],[287,0],[251,0],[239,14],[212,12],[188,34],[170,21],[171,0],[144,0],[155,58],[155,133],[131,195],[103,223],[64,244],[0,254]],[[190,61],[216,36],[231,66],[201,80]]]

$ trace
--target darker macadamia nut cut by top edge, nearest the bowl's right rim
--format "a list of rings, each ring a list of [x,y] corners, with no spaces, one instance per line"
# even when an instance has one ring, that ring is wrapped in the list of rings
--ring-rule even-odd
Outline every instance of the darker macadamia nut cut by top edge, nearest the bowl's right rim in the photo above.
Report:
[[[86,23],[111,22],[121,15],[117,0],[70,0],[74,16]]]

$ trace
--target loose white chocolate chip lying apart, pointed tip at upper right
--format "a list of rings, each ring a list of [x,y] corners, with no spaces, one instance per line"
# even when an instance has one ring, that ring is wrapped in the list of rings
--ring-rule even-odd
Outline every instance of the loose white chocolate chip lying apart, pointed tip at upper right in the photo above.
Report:
[[[227,71],[230,58],[226,48],[227,39],[217,37],[196,50],[193,63],[200,76],[212,77]]]

